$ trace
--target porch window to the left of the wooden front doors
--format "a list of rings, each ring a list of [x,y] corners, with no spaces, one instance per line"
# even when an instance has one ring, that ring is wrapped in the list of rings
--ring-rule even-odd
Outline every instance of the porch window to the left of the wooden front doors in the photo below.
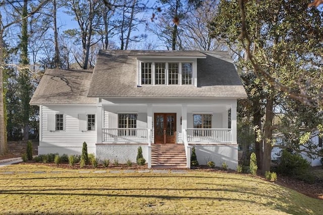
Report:
[[[119,136],[136,136],[137,114],[118,114]]]

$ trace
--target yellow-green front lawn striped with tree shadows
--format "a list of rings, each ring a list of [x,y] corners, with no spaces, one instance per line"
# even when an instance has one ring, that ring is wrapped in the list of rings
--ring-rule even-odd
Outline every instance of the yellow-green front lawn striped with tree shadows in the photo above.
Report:
[[[0,213],[323,214],[322,200],[246,175],[90,171],[0,168]]]

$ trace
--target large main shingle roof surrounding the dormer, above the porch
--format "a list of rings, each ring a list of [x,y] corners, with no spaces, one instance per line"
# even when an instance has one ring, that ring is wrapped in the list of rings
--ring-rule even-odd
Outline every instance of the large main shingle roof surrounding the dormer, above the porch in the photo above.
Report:
[[[137,86],[137,58],[196,57],[197,87]],[[246,98],[237,71],[225,51],[100,50],[90,83],[91,97]]]

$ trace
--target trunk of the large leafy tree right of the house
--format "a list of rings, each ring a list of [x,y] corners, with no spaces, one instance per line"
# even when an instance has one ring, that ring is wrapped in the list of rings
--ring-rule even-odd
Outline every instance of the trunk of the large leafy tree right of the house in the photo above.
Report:
[[[262,156],[262,168],[261,173],[264,175],[266,171],[271,170],[271,162],[272,162],[272,125],[274,119],[273,107],[274,107],[274,94],[270,94],[270,97],[267,98],[267,103],[265,106],[266,114],[265,114],[265,122],[264,122],[264,140],[263,140],[263,156]]]

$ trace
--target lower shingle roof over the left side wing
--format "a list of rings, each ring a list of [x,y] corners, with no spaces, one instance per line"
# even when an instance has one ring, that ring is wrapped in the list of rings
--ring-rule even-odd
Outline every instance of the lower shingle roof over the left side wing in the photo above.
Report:
[[[92,71],[48,69],[30,100],[38,104],[96,104],[87,97]]]

